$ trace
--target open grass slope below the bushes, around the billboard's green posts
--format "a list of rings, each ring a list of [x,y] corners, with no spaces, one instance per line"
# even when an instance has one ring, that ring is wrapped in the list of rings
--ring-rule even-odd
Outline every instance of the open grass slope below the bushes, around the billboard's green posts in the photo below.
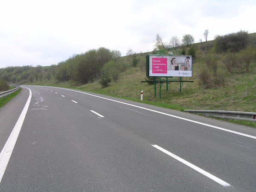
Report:
[[[145,55],[140,54],[141,60],[145,63]],[[123,58],[125,59],[125,57]],[[142,64],[143,64],[142,63]],[[166,84],[162,86],[162,98],[160,99],[159,84],[157,84],[157,98],[154,98],[154,86],[141,83],[145,80],[145,71],[140,67],[128,67],[121,73],[119,79],[111,81],[109,87],[102,88],[99,80],[88,84],[77,84],[74,81],[58,82],[55,79],[50,81],[38,81],[34,84],[48,86],[72,87],[95,93],[102,93],[111,96],[122,97],[140,102],[141,90],[143,90],[143,102],[151,105],[160,105],[166,108],[177,110],[183,109],[205,109],[205,110],[227,110],[256,112],[256,63],[250,66],[250,72],[226,73],[219,64],[218,73],[225,79],[225,86],[215,86],[206,88],[200,84],[198,74],[205,63],[201,57],[193,60],[193,77],[183,78],[183,80],[194,81],[185,82],[180,93],[180,84],[172,82],[169,90]],[[177,78],[174,78],[177,79]],[[255,122],[247,122],[249,126],[255,126]]]

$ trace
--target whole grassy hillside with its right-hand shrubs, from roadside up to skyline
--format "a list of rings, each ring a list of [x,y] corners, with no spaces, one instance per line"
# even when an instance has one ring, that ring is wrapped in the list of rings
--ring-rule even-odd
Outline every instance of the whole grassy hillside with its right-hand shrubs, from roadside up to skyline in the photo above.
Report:
[[[178,47],[185,55],[193,56],[193,77],[180,83],[172,82],[169,90],[166,84],[162,86],[160,99],[160,84],[157,84],[157,97],[154,97],[154,86],[145,81],[145,56],[154,52],[133,55],[139,61],[137,67],[131,66],[131,57],[119,58],[118,64],[128,66],[119,75],[117,81],[109,87],[102,88],[99,79],[87,84],[79,81],[62,81],[56,76],[33,84],[72,87],[90,92],[122,97],[140,102],[143,90],[143,102],[176,110],[204,109],[224,111],[256,112],[256,33],[247,37],[247,32],[237,32],[219,36],[215,41],[201,42],[191,46]],[[67,66],[73,68],[73,63]],[[59,68],[61,69],[61,68]],[[79,68],[78,68],[79,69]],[[57,80],[59,79],[59,81]],[[73,78],[76,79],[76,78]],[[173,78],[173,79],[177,79]],[[35,80],[35,79],[34,79]],[[256,127],[255,122],[247,125]]]

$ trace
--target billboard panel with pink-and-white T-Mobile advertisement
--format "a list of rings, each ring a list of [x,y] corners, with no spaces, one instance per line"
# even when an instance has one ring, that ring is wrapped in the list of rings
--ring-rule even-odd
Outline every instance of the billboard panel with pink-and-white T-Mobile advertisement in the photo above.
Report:
[[[147,76],[192,77],[191,55],[147,55]]]

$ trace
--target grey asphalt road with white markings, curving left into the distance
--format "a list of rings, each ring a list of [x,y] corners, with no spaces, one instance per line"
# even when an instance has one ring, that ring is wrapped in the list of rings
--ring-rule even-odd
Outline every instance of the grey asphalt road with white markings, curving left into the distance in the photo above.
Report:
[[[71,89],[23,86],[0,150],[0,192],[256,191],[256,129]]]

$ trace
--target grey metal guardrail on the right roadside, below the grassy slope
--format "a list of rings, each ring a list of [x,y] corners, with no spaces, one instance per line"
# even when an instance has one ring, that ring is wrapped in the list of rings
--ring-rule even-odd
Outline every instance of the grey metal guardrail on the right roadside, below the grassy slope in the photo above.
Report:
[[[256,121],[256,113],[241,111],[215,111],[215,110],[184,110],[186,112],[202,114],[226,119],[238,119],[246,121]]]

